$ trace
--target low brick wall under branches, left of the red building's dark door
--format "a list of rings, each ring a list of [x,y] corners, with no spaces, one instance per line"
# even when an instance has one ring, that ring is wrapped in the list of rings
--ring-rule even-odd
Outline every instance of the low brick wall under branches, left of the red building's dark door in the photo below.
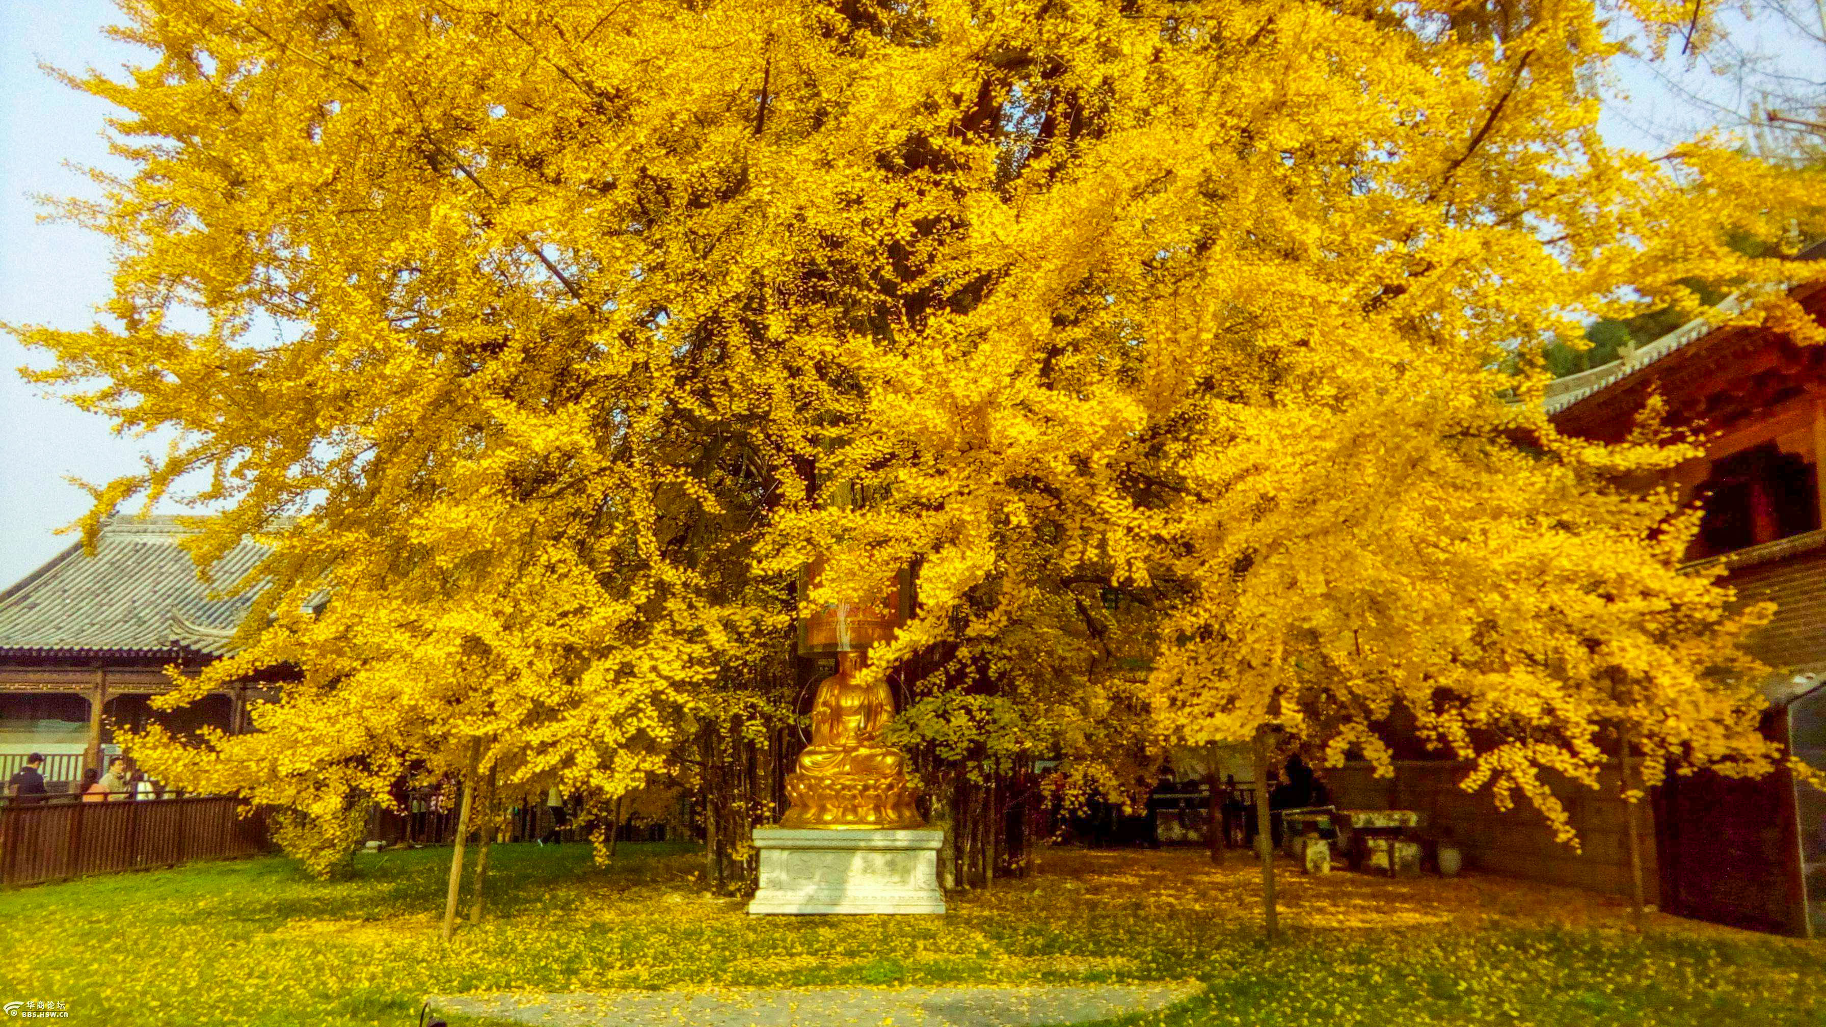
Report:
[[[1475,793],[1459,789],[1466,764],[1397,762],[1391,778],[1373,777],[1366,762],[1320,773],[1338,808],[1415,810],[1421,813],[1421,830],[1430,837],[1441,830],[1450,831],[1472,870],[1612,895],[1631,894],[1629,842],[1614,768],[1600,778],[1598,791],[1547,775],[1554,795],[1572,815],[1583,852],[1556,842],[1547,819],[1519,791],[1512,793],[1516,808],[1499,813],[1488,788]],[[1643,892],[1649,903],[1656,903],[1660,877],[1654,864],[1654,810],[1649,802],[1638,804],[1636,826],[1642,831]]]

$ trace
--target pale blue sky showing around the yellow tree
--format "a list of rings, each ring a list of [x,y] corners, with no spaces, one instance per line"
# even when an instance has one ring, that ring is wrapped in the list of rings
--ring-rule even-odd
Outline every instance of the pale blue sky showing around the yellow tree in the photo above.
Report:
[[[108,0],[0,0],[0,320],[79,329],[108,296],[106,243],[80,228],[37,223],[31,196],[93,196],[95,186],[66,166],[71,163],[119,170],[102,139],[108,106],[38,71],[40,60],[110,73],[137,60],[139,51],[100,35],[113,18]],[[1780,35],[1769,38],[1784,49]],[[1808,71],[1819,77],[1819,69]],[[1612,141],[1665,146],[1713,117],[1684,102],[1663,77],[1735,104],[1729,88],[1678,57],[1653,69],[1627,66],[1620,82],[1634,99],[1607,108]],[[0,588],[69,545],[69,535],[53,532],[75,521],[88,497],[64,481],[68,475],[106,481],[128,473],[146,448],[144,440],[115,437],[97,417],[37,395],[13,373],[27,362],[42,358],[0,336]]]

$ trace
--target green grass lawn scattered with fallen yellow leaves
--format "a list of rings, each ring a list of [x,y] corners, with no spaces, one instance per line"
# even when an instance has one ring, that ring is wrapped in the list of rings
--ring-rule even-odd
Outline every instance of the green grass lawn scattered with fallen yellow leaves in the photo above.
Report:
[[[497,846],[478,928],[438,939],[447,850],[360,855],[318,883],[283,857],[0,894],[0,1001],[64,1023],[405,1025],[466,990],[1198,979],[1169,1025],[1826,1025],[1826,943],[1651,917],[1492,877],[1256,877],[1198,852],[1048,850],[944,917],[758,917],[677,846]],[[1160,1022],[1154,1018],[1150,1022]],[[453,1022],[475,1023],[475,1022]]]

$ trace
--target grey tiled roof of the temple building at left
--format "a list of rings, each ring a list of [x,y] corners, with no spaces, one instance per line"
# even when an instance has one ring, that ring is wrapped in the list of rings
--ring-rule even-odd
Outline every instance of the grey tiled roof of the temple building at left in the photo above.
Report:
[[[93,557],[80,543],[57,554],[0,592],[0,654],[226,654],[254,596],[210,594],[239,581],[267,550],[237,545],[205,583],[177,545],[184,535],[175,517],[115,517],[102,524]]]

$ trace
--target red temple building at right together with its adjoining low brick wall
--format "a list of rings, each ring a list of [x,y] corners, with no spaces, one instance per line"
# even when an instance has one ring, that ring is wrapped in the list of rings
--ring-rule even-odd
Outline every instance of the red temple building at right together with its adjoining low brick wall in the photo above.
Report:
[[[1815,247],[1802,258],[1826,258]],[[1826,283],[1789,296],[1826,323]],[[1826,347],[1768,327],[1691,322],[1620,360],[1548,386],[1547,413],[1576,437],[1618,442],[1651,395],[1700,437],[1702,457],[1658,482],[1704,501],[1687,568],[1722,566],[1737,601],[1775,601],[1746,649],[1769,665],[1762,731],[1826,769]],[[1497,813],[1457,789],[1464,766],[1399,760],[1328,771],[1340,806],[1417,810],[1475,870],[1629,895],[1629,837],[1614,768],[1600,791],[1561,782],[1581,852],[1534,810]],[[1663,910],[1779,934],[1826,937],[1826,793],[1780,769],[1762,780],[1673,777],[1638,817],[1647,901]]]

